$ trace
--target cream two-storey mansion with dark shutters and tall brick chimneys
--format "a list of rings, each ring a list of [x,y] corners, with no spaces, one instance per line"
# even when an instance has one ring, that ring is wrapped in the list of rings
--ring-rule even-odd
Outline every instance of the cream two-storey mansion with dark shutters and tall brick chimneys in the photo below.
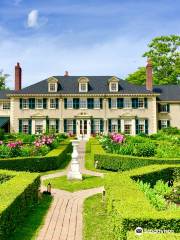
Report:
[[[180,128],[180,85],[153,86],[152,64],[146,85],[116,76],[52,76],[21,88],[22,70],[15,66],[15,90],[0,91],[0,128],[29,134],[59,132],[89,138],[122,132],[153,134]]]

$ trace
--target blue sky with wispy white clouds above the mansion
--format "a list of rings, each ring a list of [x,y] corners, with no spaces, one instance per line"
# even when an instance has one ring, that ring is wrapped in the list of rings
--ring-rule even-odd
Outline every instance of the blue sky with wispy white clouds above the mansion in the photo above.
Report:
[[[180,34],[180,0],[0,0],[0,70],[23,87],[50,76],[115,75],[146,64],[152,38]]]

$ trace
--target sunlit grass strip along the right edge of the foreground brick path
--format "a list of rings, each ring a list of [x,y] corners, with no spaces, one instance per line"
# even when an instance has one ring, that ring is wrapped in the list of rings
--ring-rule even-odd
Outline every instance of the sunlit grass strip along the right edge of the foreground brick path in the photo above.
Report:
[[[89,197],[84,202],[83,240],[113,240],[110,231],[111,219],[102,202],[102,195]]]

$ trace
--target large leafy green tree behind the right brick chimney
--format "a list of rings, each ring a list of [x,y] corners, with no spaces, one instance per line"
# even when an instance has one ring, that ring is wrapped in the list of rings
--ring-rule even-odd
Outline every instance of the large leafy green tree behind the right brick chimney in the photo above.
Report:
[[[180,36],[170,35],[154,38],[143,57],[150,58],[153,63],[153,81],[155,84],[180,83]],[[146,72],[139,68],[129,74],[127,81],[142,85]],[[144,82],[142,81],[144,74]]]

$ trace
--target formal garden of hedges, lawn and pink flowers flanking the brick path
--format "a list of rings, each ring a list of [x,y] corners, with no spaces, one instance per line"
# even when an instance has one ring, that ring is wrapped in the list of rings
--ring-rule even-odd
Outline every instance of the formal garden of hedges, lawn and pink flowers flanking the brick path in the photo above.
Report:
[[[40,177],[67,167],[70,140],[64,134],[1,136],[0,239],[36,239],[53,200],[40,194]],[[60,176],[43,185],[68,192],[104,186],[103,195],[84,202],[84,240],[176,240],[179,150],[180,131],[175,128],[151,136],[97,135],[86,143],[85,168],[103,173],[103,178],[84,174],[82,180],[69,181]],[[135,233],[137,227],[143,234]]]

